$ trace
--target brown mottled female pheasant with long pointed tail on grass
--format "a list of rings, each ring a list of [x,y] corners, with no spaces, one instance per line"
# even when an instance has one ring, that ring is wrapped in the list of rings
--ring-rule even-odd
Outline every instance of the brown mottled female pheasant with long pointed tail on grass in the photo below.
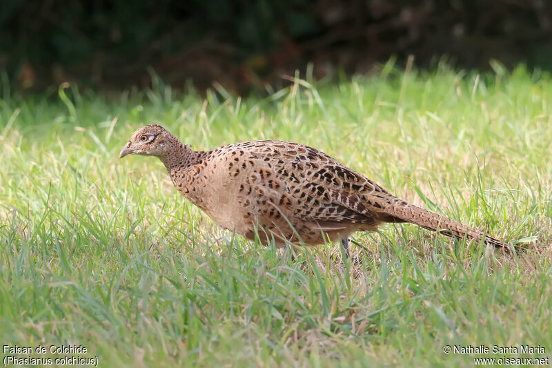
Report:
[[[159,157],[172,183],[217,224],[279,246],[342,240],[382,222],[412,222],[507,251],[508,244],[391,195],[332,157],[302,144],[255,141],[193,151],[157,124],[139,128],[119,157]],[[257,226],[258,225],[258,226]],[[347,250],[347,249],[346,249]]]

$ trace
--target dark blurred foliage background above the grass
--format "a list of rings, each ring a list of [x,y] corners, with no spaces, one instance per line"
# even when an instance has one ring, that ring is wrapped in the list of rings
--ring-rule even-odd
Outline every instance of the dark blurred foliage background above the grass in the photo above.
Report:
[[[550,68],[547,0],[1,0],[0,68],[16,88],[79,80],[244,93],[313,62],[314,77],[415,55],[463,67],[489,59]],[[149,71],[148,71],[149,70]]]

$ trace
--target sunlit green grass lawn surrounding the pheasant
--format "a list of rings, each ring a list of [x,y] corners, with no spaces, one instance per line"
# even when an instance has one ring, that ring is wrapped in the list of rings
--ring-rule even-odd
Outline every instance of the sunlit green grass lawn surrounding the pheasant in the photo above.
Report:
[[[264,99],[155,81],[115,97],[0,100],[0,342],[82,345],[103,367],[471,366],[446,345],[552,351],[552,77],[382,66]],[[290,139],[404,199],[526,248],[416,226],[295,259],[218,229],[157,159],[119,149],[162,122],[197,149]],[[61,355],[9,354],[19,358]],[[67,355],[67,354],[66,354]]]

